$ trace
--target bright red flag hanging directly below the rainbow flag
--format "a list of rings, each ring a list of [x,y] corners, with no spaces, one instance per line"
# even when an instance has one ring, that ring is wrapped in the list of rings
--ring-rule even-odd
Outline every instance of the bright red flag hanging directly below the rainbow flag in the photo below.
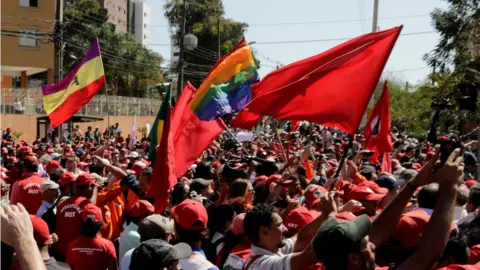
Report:
[[[185,174],[205,148],[226,128],[221,118],[202,121],[186,106],[195,92],[195,87],[187,83],[173,112],[172,129],[175,130],[173,145],[177,178]]]

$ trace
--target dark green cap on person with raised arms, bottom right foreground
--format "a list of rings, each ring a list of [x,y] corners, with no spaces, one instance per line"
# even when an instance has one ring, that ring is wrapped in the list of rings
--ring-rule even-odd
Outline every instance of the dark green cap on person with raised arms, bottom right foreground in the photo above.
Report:
[[[372,223],[367,215],[353,221],[329,219],[312,241],[317,259],[332,269],[344,263],[348,255],[360,251],[361,240],[368,235]]]

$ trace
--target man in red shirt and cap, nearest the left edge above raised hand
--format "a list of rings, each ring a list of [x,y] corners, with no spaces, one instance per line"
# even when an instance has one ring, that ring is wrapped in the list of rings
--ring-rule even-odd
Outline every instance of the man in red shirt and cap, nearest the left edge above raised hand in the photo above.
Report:
[[[35,215],[42,205],[40,185],[45,179],[37,174],[38,159],[35,156],[27,156],[23,163],[23,179],[13,184],[10,202],[23,204],[30,215]]]

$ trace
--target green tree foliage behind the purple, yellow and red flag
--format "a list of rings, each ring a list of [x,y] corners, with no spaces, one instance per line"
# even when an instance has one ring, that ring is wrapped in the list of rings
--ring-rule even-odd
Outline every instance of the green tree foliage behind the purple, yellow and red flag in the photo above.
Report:
[[[115,32],[107,10],[95,0],[80,0],[64,10],[64,71],[69,72],[96,37],[100,40],[107,84],[114,95],[149,97],[164,81],[163,58],[130,34]],[[73,56],[73,57],[72,57]]]

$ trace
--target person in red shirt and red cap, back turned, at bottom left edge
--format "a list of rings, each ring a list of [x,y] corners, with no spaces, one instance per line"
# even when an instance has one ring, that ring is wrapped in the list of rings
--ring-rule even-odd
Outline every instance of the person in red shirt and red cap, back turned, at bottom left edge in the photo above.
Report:
[[[67,248],[67,263],[74,270],[116,270],[117,255],[113,243],[98,232],[103,226],[102,210],[90,203],[81,214],[81,236]]]

